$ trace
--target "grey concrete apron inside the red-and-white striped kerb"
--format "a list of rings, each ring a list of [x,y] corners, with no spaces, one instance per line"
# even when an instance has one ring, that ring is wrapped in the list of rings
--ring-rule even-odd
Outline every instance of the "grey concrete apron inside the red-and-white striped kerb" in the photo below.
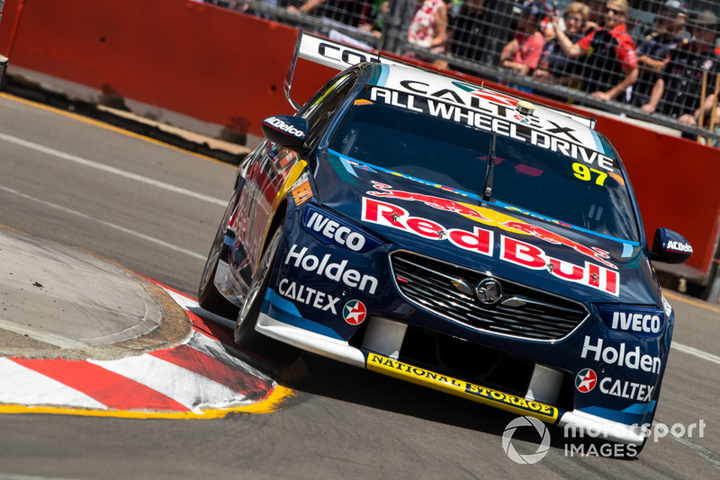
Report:
[[[175,347],[192,333],[183,308],[152,281],[6,227],[0,292],[4,357],[115,360]]]

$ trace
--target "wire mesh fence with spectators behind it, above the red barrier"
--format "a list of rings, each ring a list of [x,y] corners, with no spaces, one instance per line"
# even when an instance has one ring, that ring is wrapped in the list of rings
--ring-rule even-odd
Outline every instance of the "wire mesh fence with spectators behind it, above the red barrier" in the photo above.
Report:
[[[720,146],[716,0],[206,2]]]

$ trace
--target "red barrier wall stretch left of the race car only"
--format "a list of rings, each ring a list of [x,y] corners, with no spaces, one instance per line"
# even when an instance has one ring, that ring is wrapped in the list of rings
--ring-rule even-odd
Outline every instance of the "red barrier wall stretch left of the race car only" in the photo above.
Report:
[[[11,75],[23,67],[240,133],[292,111],[291,27],[189,0],[8,0],[5,15]]]

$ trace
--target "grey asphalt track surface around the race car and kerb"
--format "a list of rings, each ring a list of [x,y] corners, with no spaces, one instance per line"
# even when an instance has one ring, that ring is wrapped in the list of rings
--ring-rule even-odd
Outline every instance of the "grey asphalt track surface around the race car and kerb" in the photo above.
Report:
[[[189,297],[234,173],[0,96],[0,224],[96,253]],[[0,478],[717,478],[720,306],[667,293],[677,322],[656,417],[667,428],[656,427],[657,441],[639,458],[606,458],[595,444],[571,456],[563,431],[551,428],[545,457],[519,465],[502,446],[516,415],[303,355],[279,379],[291,393],[275,411],[158,419],[0,405]],[[529,427],[511,439],[520,455],[540,442]]]

